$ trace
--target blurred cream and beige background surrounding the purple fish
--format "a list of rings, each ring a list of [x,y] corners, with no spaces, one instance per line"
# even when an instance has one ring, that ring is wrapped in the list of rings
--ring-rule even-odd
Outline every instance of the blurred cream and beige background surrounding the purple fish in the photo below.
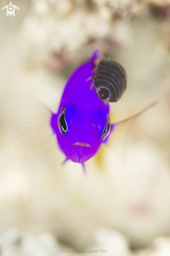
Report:
[[[15,17],[0,14],[0,255],[170,255],[170,1],[13,5]],[[67,77],[97,48],[128,76],[112,120],[159,103],[126,143],[101,147],[84,175],[62,165],[38,102],[56,112]]]

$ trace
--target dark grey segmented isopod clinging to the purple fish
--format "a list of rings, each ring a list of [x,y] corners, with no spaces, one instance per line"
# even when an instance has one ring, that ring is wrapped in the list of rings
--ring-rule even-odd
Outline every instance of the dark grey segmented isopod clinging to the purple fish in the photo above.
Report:
[[[100,99],[117,102],[127,86],[126,72],[117,62],[101,60],[95,71],[94,86]]]

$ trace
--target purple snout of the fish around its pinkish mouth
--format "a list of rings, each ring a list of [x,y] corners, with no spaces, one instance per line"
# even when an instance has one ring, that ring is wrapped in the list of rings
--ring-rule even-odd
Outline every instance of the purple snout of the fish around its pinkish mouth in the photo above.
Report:
[[[73,162],[83,163],[96,153],[96,143],[88,137],[75,137],[66,143],[66,155]]]

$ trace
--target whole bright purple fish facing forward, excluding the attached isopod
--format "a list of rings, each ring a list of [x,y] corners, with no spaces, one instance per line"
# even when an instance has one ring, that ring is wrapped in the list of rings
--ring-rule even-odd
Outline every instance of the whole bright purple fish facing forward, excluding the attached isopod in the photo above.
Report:
[[[66,155],[66,160],[83,163],[92,158],[113,126],[109,120],[109,104],[90,88],[98,51],[92,59],[71,74],[66,82],[61,103],[56,114],[51,115],[51,128]]]

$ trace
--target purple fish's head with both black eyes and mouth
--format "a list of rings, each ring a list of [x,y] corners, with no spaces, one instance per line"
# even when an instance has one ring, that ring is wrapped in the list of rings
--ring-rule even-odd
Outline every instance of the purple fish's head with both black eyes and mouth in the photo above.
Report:
[[[66,103],[52,114],[51,128],[66,159],[83,163],[97,153],[110,133],[109,107],[89,111]]]

